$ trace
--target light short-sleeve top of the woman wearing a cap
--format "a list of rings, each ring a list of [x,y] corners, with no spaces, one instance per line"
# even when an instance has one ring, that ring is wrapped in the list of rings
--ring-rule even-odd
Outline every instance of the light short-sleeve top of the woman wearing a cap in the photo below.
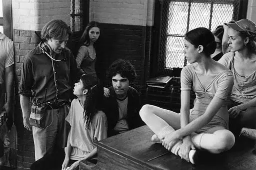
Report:
[[[234,57],[233,52],[228,52],[218,62],[228,67],[234,76],[230,99],[237,103],[246,103],[256,97],[256,70],[248,76],[240,76],[234,68]]]

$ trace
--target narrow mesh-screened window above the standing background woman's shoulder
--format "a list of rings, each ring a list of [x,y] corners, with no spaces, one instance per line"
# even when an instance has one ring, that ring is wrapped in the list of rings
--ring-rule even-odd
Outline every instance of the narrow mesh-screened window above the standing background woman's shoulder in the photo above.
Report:
[[[70,29],[72,32],[78,32],[82,30],[82,26],[83,26],[82,0],[71,0]]]

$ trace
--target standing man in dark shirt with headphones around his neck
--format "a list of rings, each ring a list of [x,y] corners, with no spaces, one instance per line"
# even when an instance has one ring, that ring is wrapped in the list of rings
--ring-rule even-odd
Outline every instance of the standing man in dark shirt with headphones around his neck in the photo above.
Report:
[[[41,42],[23,62],[20,105],[24,128],[33,134],[35,161],[52,151],[62,152],[66,144],[65,117],[79,76],[72,52],[65,46],[70,35],[64,21],[49,21],[41,30]]]

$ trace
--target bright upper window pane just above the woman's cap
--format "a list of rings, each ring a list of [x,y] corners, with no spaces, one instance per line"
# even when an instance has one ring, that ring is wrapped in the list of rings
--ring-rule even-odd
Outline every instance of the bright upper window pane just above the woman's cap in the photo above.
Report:
[[[213,4],[211,30],[232,19],[233,4]]]

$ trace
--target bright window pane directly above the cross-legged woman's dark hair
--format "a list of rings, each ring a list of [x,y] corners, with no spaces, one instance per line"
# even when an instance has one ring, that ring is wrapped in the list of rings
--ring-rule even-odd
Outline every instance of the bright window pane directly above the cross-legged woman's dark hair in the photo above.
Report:
[[[210,4],[209,3],[191,3],[189,30],[197,27],[209,27]]]

